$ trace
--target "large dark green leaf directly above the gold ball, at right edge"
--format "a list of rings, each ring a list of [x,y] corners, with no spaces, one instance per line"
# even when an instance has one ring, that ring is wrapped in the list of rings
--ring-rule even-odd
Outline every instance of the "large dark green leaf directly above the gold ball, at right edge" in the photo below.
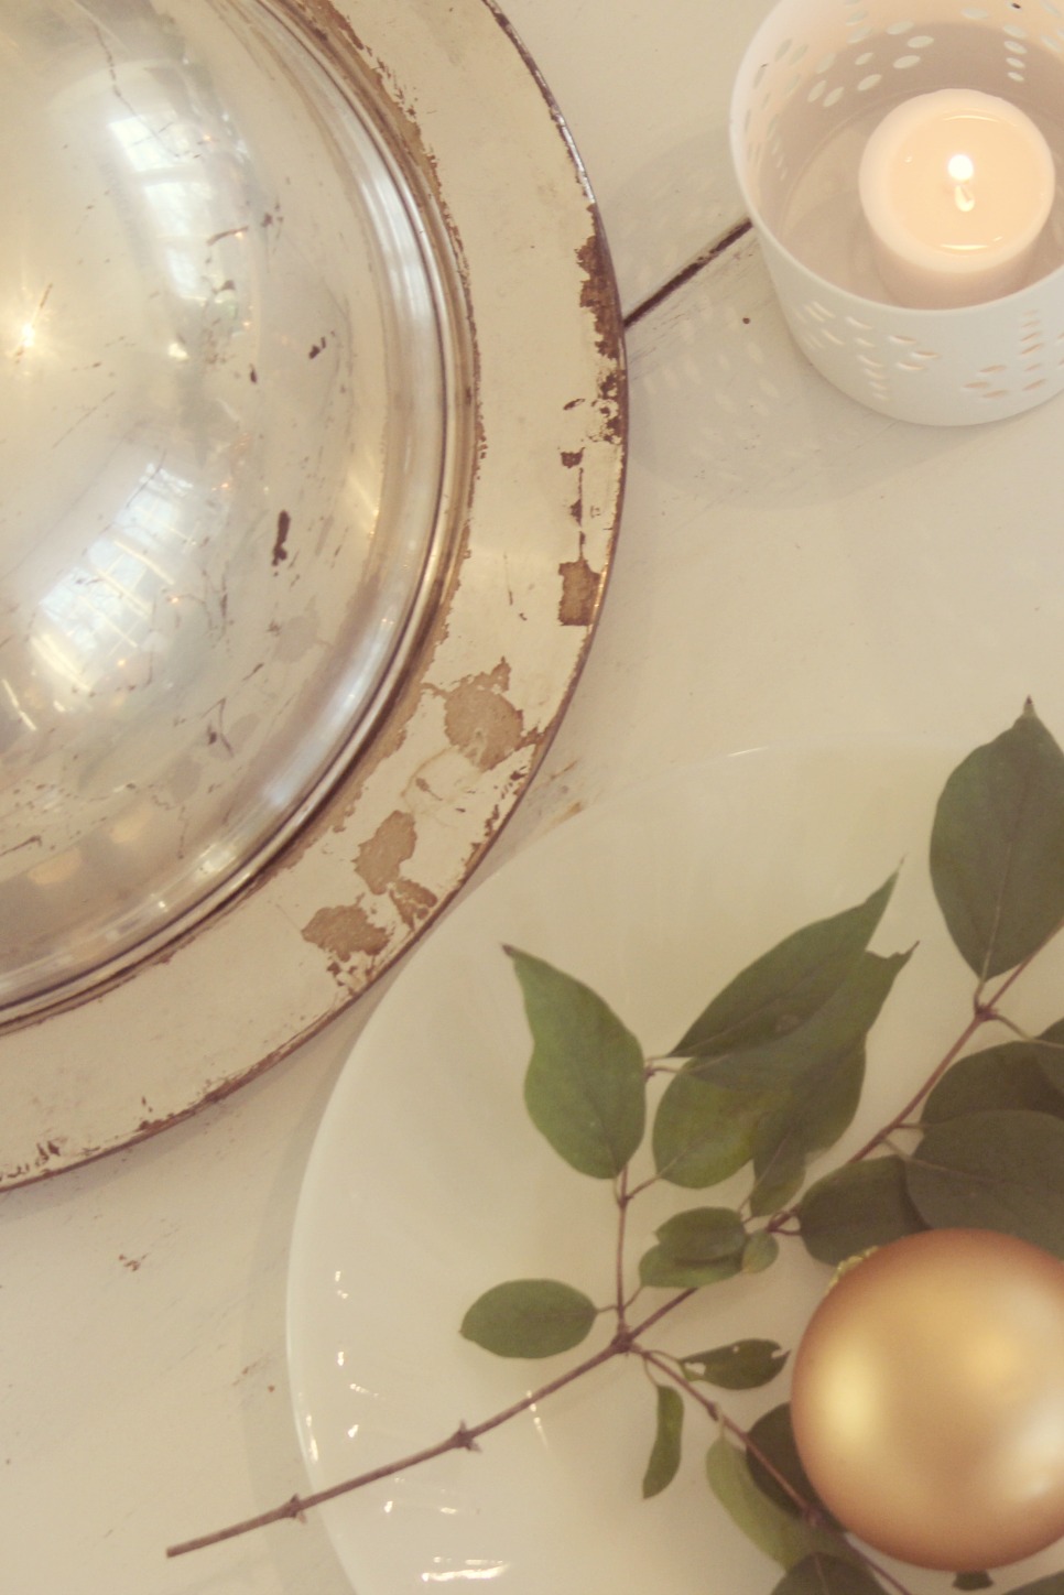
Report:
[[[932,1124],[904,1179],[933,1230],[999,1230],[1064,1257],[1064,1120],[1000,1109]]]

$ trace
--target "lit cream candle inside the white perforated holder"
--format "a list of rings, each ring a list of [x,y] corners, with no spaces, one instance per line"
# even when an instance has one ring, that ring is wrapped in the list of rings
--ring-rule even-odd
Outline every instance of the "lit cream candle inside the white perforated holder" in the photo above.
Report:
[[[1042,132],[1008,100],[940,89],[897,105],[858,190],[881,276],[903,305],[978,305],[1018,289],[1053,206]]]

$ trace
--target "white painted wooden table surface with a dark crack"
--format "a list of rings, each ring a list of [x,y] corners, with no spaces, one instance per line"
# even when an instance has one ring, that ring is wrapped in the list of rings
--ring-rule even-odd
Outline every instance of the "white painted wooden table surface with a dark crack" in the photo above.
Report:
[[[509,0],[630,313],[740,219],[727,93],[764,10]],[[636,317],[630,360],[601,627],[482,874],[574,809],[715,753],[973,745],[1029,692],[1064,734],[1062,400],[967,431],[855,407],[794,352],[750,236]],[[313,1515],[163,1550],[305,1487],[287,1247],[316,1126],[378,998],[222,1105],[0,1199],[2,1595],[349,1590]]]

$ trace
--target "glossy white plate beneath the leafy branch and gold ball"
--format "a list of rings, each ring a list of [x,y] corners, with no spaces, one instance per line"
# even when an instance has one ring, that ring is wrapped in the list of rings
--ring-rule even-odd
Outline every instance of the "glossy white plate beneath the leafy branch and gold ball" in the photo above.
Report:
[[[466,1308],[504,1279],[558,1278],[595,1302],[613,1297],[609,1182],[568,1169],[525,1115],[530,1042],[502,944],[589,983],[649,1054],[664,1053],[748,960],[863,900],[901,863],[873,946],[919,947],[873,1032],[865,1097],[826,1171],[901,1107],[970,1013],[971,978],[927,876],[954,762],[780,750],[688,769],[565,823],[435,928],[351,1054],[298,1204],[289,1364],[311,1488],[488,1418],[608,1340],[606,1321],[568,1357],[522,1362],[458,1333]],[[1053,1018],[1054,979],[1046,970],[1024,987],[1021,1021]],[[737,1201],[747,1185],[656,1191],[632,1209],[635,1233],[649,1244],[668,1212]],[[759,1335],[790,1348],[826,1278],[785,1243],[769,1273],[703,1292],[659,1343],[696,1353]],[[786,1373],[721,1399],[753,1421],[786,1399]],[[767,1595],[778,1569],[708,1493],[710,1424],[688,1418],[680,1477],[644,1502],[652,1431],[646,1380],[613,1362],[488,1434],[479,1453],[322,1510],[359,1595],[451,1582],[504,1595]],[[1046,1554],[1031,1566],[1053,1565]],[[949,1585],[912,1569],[903,1582]]]

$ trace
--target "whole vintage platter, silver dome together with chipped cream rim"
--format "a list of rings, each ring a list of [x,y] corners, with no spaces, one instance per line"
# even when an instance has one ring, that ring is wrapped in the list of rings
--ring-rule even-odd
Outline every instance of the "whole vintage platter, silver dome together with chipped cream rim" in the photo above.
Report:
[[[622,332],[488,0],[3,0],[0,1185],[303,1042],[517,802]]]

